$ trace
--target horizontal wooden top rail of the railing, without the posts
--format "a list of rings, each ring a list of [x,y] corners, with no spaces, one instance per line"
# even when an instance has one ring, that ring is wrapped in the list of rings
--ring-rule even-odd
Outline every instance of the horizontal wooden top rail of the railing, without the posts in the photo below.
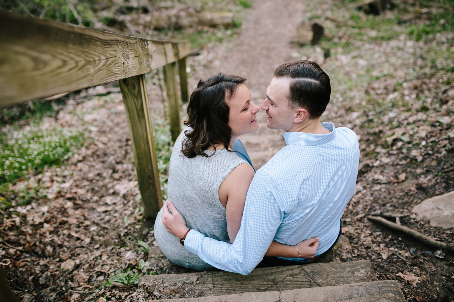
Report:
[[[0,105],[132,77],[184,58],[190,43],[125,36],[0,10]]]

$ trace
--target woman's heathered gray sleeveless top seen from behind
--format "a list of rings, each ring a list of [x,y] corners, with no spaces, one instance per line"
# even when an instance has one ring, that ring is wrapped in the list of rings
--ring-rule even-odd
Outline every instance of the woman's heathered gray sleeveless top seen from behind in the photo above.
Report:
[[[186,130],[191,128],[186,127],[178,136],[170,157],[168,199],[183,215],[189,229],[230,243],[226,209],[219,200],[219,186],[234,168],[246,161],[226,149],[216,152],[206,150],[208,155],[214,153],[208,158],[201,155],[187,158],[181,152],[182,143],[187,139],[184,134]],[[174,264],[187,268],[199,271],[215,269],[185,249],[176,236],[165,230],[161,220],[162,211],[156,217],[154,237],[163,254]]]

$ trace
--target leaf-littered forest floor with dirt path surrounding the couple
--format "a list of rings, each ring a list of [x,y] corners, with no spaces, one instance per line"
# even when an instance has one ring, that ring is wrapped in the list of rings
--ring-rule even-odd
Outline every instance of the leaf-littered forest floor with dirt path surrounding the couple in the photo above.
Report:
[[[350,1],[255,1],[238,34],[229,33],[232,38],[206,45],[188,58],[189,90],[212,73],[234,73],[248,79],[252,101],[260,105],[276,66],[299,59],[320,64],[332,87],[322,121],[353,129],[361,158],[356,192],[342,219],[348,240],[317,261],[369,259],[380,280],[400,282],[407,301],[454,301],[454,254],[365,219],[374,211],[409,214],[403,225],[454,242],[454,228],[431,226],[411,213],[421,201],[454,190],[454,34],[445,28],[452,20],[444,17],[443,5],[427,5],[431,20],[423,16],[398,22],[424,4],[401,2],[373,16]],[[318,45],[291,43],[301,22],[324,26]],[[226,33],[216,30],[218,37]],[[147,84],[165,196],[172,143],[162,73],[148,74]],[[7,206],[0,213],[0,265],[24,302],[179,297],[178,292],[149,293],[134,284],[108,286],[126,272],[132,272],[128,276],[134,283],[138,273],[188,271],[147,262],[148,247],[156,245],[153,222],[143,221],[116,87],[111,83],[97,87],[98,92],[92,89],[99,94],[94,97],[70,94],[54,115],[39,123],[3,129],[10,140],[49,129],[81,137],[67,164],[44,168],[2,189]],[[257,120],[259,130],[240,137],[256,169],[285,145],[281,131],[266,128],[263,110]]]

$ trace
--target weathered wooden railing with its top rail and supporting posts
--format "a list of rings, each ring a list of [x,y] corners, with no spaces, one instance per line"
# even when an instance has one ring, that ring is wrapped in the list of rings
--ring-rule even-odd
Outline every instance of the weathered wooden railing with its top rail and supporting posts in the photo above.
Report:
[[[145,73],[163,67],[172,139],[180,133],[176,62],[188,101],[187,41],[125,36],[0,10],[0,106],[119,81],[145,217],[163,205]]]

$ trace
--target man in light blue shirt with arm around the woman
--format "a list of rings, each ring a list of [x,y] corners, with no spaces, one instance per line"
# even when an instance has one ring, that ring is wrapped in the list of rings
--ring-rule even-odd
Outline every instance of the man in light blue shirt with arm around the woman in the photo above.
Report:
[[[255,174],[234,243],[189,230],[171,202],[163,209],[168,232],[182,238],[184,247],[208,264],[242,274],[262,261],[273,239],[295,245],[319,236],[316,256],[332,248],[355,191],[359,144],[352,130],[321,123],[330,94],[330,79],[316,63],[297,61],[277,67],[261,108],[266,110],[269,128],[286,131],[287,146]],[[273,261],[282,265],[283,260]]]

